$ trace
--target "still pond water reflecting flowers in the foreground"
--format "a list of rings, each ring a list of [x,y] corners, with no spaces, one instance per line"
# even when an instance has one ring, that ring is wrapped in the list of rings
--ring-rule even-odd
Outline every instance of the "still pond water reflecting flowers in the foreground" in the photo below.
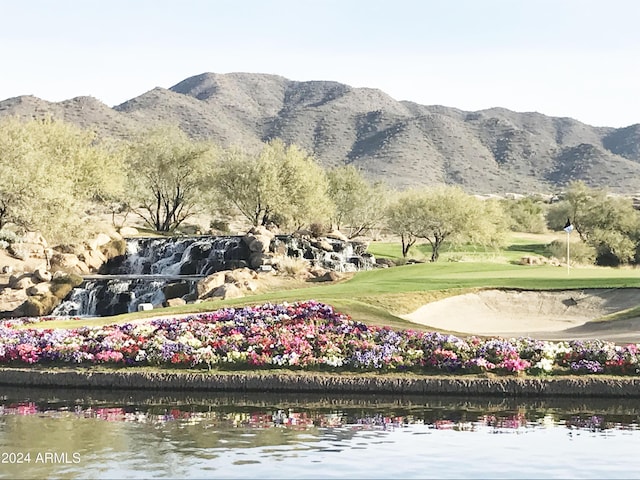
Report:
[[[0,387],[0,478],[640,478],[625,400]]]

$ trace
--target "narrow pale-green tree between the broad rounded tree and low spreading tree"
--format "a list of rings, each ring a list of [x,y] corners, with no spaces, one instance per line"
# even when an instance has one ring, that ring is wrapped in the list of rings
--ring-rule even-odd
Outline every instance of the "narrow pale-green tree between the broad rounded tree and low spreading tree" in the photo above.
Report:
[[[389,197],[382,183],[371,184],[353,165],[333,168],[327,177],[335,206],[332,222],[338,230],[348,228],[348,237],[355,238],[380,227]]]

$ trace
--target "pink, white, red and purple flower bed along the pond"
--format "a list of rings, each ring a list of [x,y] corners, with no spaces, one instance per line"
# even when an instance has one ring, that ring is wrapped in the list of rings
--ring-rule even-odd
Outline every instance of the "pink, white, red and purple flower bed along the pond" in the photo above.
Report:
[[[638,345],[599,340],[459,338],[368,326],[315,301],[225,308],[186,318],[105,327],[0,323],[0,365],[120,364],[288,367],[440,373],[640,373]]]

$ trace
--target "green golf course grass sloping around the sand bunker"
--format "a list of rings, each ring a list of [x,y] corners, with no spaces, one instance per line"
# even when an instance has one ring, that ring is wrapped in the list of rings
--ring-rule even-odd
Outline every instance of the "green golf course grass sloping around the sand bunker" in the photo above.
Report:
[[[634,269],[604,267],[572,268],[549,265],[521,266],[513,262],[524,254],[543,253],[545,237],[514,237],[509,245],[489,252],[501,261],[489,258],[483,261],[448,262],[447,255],[467,255],[480,248],[463,246],[449,249],[438,263],[419,263],[389,269],[359,272],[352,278],[330,285],[312,286],[273,293],[255,295],[236,300],[210,301],[181,307],[137,312],[117,317],[66,320],[48,322],[47,327],[71,327],[105,325],[131,321],[158,315],[180,315],[215,310],[224,306],[255,305],[265,302],[282,302],[315,299],[333,305],[338,311],[352,318],[375,325],[397,328],[420,328],[399,318],[419,306],[446,296],[461,294],[482,288],[510,288],[526,290],[563,290],[582,288],[640,287],[640,276]],[[394,243],[373,244],[369,249],[374,255],[396,257],[400,246]],[[487,255],[487,252],[483,252]]]

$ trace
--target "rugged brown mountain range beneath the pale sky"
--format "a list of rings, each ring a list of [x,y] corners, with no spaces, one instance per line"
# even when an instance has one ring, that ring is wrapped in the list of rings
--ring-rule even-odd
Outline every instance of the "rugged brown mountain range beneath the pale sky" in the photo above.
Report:
[[[525,193],[583,180],[640,192],[640,124],[616,129],[503,108],[466,112],[331,81],[204,73],[113,108],[91,97],[0,102],[0,116],[44,114],[117,137],[177,123],[193,138],[248,150],[280,137],[324,166],[353,164],[399,188],[449,183],[473,193]]]

